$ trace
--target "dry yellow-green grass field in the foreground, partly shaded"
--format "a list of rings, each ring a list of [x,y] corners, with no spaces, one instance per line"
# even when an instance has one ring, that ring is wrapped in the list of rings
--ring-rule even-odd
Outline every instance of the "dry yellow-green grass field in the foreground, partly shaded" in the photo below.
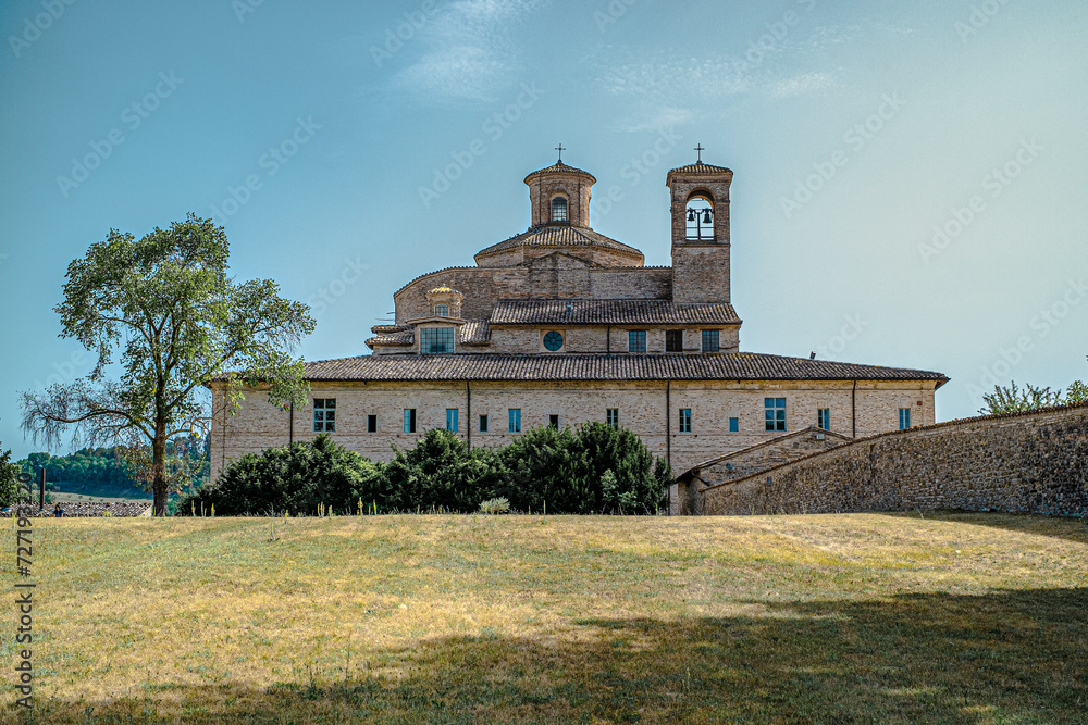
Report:
[[[35,522],[35,722],[1088,722],[1078,521],[423,515],[275,535]]]

